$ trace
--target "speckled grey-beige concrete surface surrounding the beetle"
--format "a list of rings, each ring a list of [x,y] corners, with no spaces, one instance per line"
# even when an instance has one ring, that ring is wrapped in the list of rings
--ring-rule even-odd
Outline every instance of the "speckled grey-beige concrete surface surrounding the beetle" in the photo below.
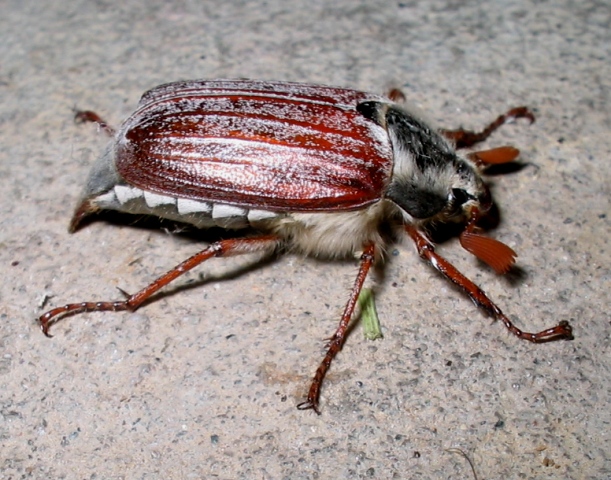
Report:
[[[127,0],[1,4],[0,478],[611,477],[611,12],[605,2]],[[34,319],[114,299],[201,248],[100,220],[66,231],[106,143],[72,108],[119,123],[186,78],[311,81],[409,100],[447,127],[505,127],[525,168],[492,179],[520,254],[498,278],[441,250],[519,325],[570,319],[530,345],[484,317],[406,240],[379,282],[385,338],[357,327],[322,415],[301,401],[356,272],[287,256],[213,261],[135,314],[45,338]],[[44,301],[43,301],[44,300]]]

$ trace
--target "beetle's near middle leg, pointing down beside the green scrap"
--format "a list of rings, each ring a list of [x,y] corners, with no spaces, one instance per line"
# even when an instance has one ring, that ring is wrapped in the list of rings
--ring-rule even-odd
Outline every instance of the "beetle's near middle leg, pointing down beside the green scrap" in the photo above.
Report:
[[[346,304],[346,308],[344,309],[344,313],[342,314],[339,326],[337,327],[337,330],[329,341],[329,349],[327,350],[325,358],[318,367],[318,370],[316,370],[316,374],[314,375],[314,379],[312,380],[312,384],[310,386],[310,391],[308,392],[307,400],[297,405],[297,408],[299,410],[307,410],[311,408],[316,413],[320,414],[320,411],[318,410],[320,387],[325,378],[325,375],[327,374],[327,371],[329,370],[329,367],[331,366],[331,362],[342,349],[342,345],[344,344],[344,340],[346,339],[346,332],[348,330],[348,325],[350,324],[352,314],[354,313],[354,308],[356,306],[357,299],[359,297],[359,294],[361,293],[361,289],[363,288],[363,284],[365,283],[365,278],[367,278],[367,273],[373,265],[374,260],[375,245],[371,243],[367,245],[363,250],[363,254],[361,255],[361,265],[359,267],[359,273],[356,276],[354,286],[352,287],[352,293],[350,294],[350,298],[348,299],[348,303]]]

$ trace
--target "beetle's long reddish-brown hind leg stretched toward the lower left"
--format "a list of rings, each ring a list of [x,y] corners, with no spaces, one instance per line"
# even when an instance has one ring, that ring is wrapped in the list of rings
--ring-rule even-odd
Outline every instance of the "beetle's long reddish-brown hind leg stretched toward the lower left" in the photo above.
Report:
[[[176,280],[183,273],[188,272],[192,268],[197,267],[200,263],[205,262],[212,257],[227,257],[230,255],[240,255],[244,253],[254,253],[264,250],[272,250],[276,248],[280,243],[280,238],[275,235],[262,235],[259,237],[252,238],[235,238],[230,240],[221,240],[213,243],[201,252],[196,253],[192,257],[188,258],[180,265],[177,265],[169,272],[165,273],[157,280],[153,281],[148,286],[144,287],[137,293],[126,295],[125,300],[115,302],[81,302],[81,303],[69,303],[63,307],[54,308],[49,310],[47,313],[41,315],[38,318],[38,323],[42,332],[47,336],[49,334],[49,328],[55,324],[60,318],[67,315],[76,315],[77,313],[83,312],[106,312],[106,311],[123,311],[129,310],[133,312],[140,305],[142,305],[147,299],[151,297],[155,292],[165,287],[170,282]],[[59,317],[59,318],[58,318]]]

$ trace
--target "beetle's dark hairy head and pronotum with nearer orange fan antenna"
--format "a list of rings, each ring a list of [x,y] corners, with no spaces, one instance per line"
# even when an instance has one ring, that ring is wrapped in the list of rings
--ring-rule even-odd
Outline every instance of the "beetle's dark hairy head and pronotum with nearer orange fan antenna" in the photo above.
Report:
[[[437,130],[397,105],[364,102],[357,110],[388,132],[394,164],[386,198],[400,208],[405,221],[418,225],[467,220],[460,235],[463,248],[499,273],[509,270],[516,253],[475,233],[477,221],[492,206],[475,161],[457,155]]]

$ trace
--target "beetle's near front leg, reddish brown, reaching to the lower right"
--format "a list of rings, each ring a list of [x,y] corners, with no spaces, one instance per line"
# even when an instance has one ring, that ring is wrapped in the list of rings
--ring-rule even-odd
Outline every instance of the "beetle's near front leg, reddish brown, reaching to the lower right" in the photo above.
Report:
[[[572,340],[573,329],[567,321],[561,321],[557,326],[547,328],[538,333],[529,333],[520,330],[511,320],[497,307],[490,298],[475,283],[465,277],[458,269],[448,262],[445,258],[435,252],[435,248],[425,235],[412,225],[406,225],[407,233],[412,237],[418,248],[420,256],[427,260],[438,272],[450,280],[455,285],[462,288],[471,300],[480,308],[488,312],[497,320],[502,321],[507,329],[516,337],[528,340],[533,343],[551,342],[554,340]]]

